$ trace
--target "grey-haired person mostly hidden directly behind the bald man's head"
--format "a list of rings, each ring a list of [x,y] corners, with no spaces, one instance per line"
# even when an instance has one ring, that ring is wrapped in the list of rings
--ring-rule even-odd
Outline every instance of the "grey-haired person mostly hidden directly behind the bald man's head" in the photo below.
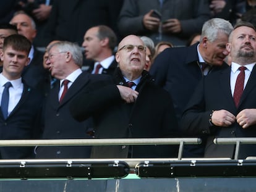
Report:
[[[155,54],[155,44],[153,40],[151,40],[147,36],[140,36],[140,39],[143,41],[146,46],[146,63],[144,69],[149,71],[151,64],[153,62],[153,56]]]

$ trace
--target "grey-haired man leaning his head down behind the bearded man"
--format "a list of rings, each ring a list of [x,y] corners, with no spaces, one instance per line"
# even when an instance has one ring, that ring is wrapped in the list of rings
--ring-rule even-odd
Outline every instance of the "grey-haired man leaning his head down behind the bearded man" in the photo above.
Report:
[[[165,49],[156,57],[150,73],[156,83],[171,94],[178,122],[191,94],[203,76],[228,67],[227,64],[223,64],[223,60],[228,55],[226,43],[232,29],[231,23],[226,20],[219,18],[208,20],[203,25],[199,44]],[[203,65],[207,66],[205,70]],[[201,157],[203,148],[203,146],[186,145],[184,157]]]

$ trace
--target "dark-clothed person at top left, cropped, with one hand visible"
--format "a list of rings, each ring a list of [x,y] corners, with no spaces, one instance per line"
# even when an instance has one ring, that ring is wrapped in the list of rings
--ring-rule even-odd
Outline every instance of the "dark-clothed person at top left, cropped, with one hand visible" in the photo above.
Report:
[[[46,22],[51,13],[54,0],[16,0],[16,9],[23,10],[30,15],[36,23],[36,37],[33,41],[34,46],[45,46]]]

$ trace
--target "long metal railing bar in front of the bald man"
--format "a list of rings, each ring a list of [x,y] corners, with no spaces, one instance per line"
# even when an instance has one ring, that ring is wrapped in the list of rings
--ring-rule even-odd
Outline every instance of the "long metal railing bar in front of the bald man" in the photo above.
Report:
[[[118,139],[65,139],[65,140],[0,140],[0,146],[98,146],[145,144],[200,144],[200,138],[118,138]]]

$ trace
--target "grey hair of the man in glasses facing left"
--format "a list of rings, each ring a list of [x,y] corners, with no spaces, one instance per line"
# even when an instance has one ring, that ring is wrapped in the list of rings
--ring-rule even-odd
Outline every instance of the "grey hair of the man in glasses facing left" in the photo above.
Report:
[[[49,45],[47,51],[49,52],[49,50],[54,46],[56,46],[56,48],[59,49],[59,52],[70,52],[72,54],[72,58],[75,64],[79,65],[79,67],[82,67],[83,54],[82,54],[82,50],[80,49],[77,43],[72,43],[69,41],[59,41],[57,43],[53,43]]]

